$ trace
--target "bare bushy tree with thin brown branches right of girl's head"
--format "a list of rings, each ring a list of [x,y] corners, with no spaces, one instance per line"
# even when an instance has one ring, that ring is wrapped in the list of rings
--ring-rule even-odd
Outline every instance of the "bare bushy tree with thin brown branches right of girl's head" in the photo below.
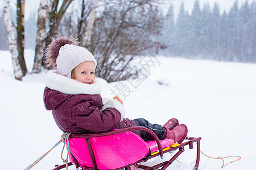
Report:
[[[132,61],[146,50],[158,50],[162,44],[154,40],[160,34],[162,16],[157,1],[109,1],[96,20],[89,50],[96,56],[96,73],[114,82],[136,78],[139,70]]]

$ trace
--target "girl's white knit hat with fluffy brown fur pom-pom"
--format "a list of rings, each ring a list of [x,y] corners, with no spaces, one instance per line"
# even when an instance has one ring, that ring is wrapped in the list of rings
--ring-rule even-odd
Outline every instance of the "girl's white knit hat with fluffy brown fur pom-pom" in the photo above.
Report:
[[[97,66],[96,59],[87,49],[78,46],[77,39],[60,37],[49,45],[46,53],[50,66],[57,67],[59,74],[71,78],[71,71],[80,63],[92,61]]]

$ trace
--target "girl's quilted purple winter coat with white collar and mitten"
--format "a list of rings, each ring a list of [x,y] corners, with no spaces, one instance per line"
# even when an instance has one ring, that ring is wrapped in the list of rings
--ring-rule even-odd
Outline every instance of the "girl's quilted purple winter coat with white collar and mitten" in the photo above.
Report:
[[[65,132],[100,133],[136,126],[134,121],[123,119],[125,110],[119,101],[109,100],[102,104],[97,79],[93,84],[84,84],[50,70],[46,85],[44,105]]]

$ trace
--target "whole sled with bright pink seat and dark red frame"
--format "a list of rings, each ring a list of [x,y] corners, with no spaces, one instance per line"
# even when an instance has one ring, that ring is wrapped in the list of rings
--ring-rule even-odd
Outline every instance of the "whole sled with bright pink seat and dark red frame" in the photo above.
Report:
[[[135,130],[143,130],[151,134],[155,141],[143,141],[139,135],[133,133]],[[118,129],[106,133],[97,134],[71,134],[67,146],[69,146],[70,163],[75,164],[79,169],[123,169],[130,170],[131,166],[142,169],[166,169],[172,162],[185,151],[184,146],[193,148],[193,143],[196,142],[196,164],[199,166],[200,159],[200,140],[201,138],[189,138],[180,145],[174,143],[172,139],[164,139],[160,141],[156,134],[150,129],[140,126]],[[140,163],[160,156],[166,152],[176,151],[176,154],[167,161],[148,167]],[[66,164],[56,165],[53,170],[63,169]]]

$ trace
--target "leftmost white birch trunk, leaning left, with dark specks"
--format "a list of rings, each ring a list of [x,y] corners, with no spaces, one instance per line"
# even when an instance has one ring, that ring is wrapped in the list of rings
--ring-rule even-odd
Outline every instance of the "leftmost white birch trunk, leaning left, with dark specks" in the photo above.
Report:
[[[9,40],[9,50],[11,52],[11,59],[13,63],[13,69],[14,69],[14,76],[17,80],[22,80],[22,70],[19,65],[18,61],[18,48],[17,48],[17,42],[14,35],[14,28],[13,24],[11,22],[11,12],[10,12],[10,1],[4,0],[5,7],[4,7],[4,15],[5,15],[5,25],[7,30],[7,37]]]

